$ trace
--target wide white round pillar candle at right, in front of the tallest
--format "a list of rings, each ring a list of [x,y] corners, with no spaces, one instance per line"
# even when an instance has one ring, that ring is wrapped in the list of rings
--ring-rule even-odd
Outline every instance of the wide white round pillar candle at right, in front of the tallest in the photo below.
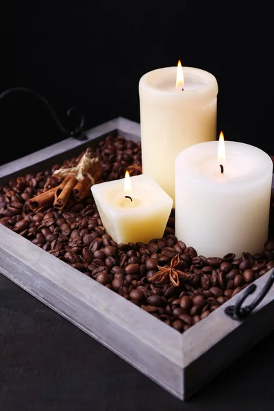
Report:
[[[268,236],[271,158],[240,142],[219,144],[202,142],[176,158],[175,234],[206,257],[258,253]]]

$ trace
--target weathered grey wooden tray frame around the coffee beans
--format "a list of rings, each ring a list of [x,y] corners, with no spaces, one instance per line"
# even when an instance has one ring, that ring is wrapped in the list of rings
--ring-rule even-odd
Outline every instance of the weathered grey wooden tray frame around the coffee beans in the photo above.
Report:
[[[140,125],[118,118],[90,129],[88,141],[68,138],[0,166],[0,186],[17,175],[47,169],[118,131],[140,140]],[[224,312],[240,293],[184,334],[65,262],[0,225],[0,272],[114,351],[163,388],[186,399],[274,328],[274,288],[244,321]],[[270,272],[256,280],[256,292]]]

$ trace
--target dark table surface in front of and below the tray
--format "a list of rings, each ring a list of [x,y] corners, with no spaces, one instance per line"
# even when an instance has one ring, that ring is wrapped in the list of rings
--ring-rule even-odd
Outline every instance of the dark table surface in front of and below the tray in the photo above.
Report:
[[[273,411],[273,368],[274,332],[183,403],[0,275],[0,411]]]

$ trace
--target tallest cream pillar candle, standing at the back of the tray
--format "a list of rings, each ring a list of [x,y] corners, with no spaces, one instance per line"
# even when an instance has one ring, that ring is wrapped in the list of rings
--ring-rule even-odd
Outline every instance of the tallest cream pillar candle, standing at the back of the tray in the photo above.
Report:
[[[177,155],[190,145],[216,140],[217,93],[216,78],[192,67],[157,69],[140,79],[142,172],[173,200]]]

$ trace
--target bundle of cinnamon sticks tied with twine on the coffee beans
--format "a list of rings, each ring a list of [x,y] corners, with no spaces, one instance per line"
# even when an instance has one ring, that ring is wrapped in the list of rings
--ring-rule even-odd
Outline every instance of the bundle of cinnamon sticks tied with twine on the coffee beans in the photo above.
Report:
[[[77,203],[90,195],[90,187],[101,177],[101,164],[99,159],[90,158],[87,151],[77,166],[59,169],[53,174],[63,177],[62,182],[50,190],[42,192],[29,200],[29,208],[38,212],[53,205],[58,210],[63,210],[68,201]]]

